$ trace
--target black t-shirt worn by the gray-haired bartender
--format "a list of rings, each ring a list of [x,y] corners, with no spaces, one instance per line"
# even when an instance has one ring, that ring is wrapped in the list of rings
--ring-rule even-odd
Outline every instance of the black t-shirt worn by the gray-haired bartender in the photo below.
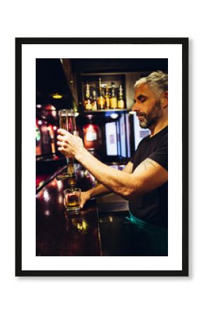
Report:
[[[130,160],[133,171],[146,158],[150,158],[168,170],[168,126],[155,136],[143,138]],[[157,189],[133,197],[129,201],[132,215],[148,223],[168,225],[168,182]]]

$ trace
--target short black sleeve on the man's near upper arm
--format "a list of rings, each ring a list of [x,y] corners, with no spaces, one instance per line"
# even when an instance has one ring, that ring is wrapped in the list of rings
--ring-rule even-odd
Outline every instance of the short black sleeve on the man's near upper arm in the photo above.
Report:
[[[149,157],[154,162],[157,162],[168,171],[168,135],[160,140],[154,152]]]

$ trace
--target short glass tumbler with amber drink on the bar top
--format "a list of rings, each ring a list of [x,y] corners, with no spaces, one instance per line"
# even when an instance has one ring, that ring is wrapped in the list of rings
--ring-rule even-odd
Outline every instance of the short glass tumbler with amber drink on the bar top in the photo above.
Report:
[[[64,190],[64,206],[69,213],[76,213],[80,210],[81,189],[71,187]]]

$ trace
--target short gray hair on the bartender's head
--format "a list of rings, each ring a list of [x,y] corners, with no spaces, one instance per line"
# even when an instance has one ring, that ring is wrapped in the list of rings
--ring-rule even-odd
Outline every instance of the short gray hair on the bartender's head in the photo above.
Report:
[[[168,74],[160,70],[152,72],[148,77],[137,80],[134,88],[141,84],[147,84],[155,96],[160,97],[163,92],[168,91]]]

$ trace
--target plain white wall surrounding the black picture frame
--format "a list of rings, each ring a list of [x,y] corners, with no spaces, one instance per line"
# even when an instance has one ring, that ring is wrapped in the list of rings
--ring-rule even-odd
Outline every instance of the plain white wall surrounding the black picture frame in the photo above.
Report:
[[[202,313],[201,1],[4,1],[1,5],[1,315]],[[80,12],[78,12],[80,9]],[[87,9],[89,18],[85,18]],[[104,9],[104,15],[101,10]],[[108,15],[109,13],[109,15]],[[190,277],[15,277],[15,37],[190,37]],[[9,85],[8,85],[9,83]],[[29,106],[29,105],[28,105]],[[174,100],[174,114],[175,114]],[[7,118],[12,117],[8,124]],[[3,123],[3,126],[2,126]],[[8,171],[9,170],[9,176]],[[2,189],[1,189],[2,190]],[[5,205],[3,205],[3,202]],[[81,261],[81,269],[82,261]]]

